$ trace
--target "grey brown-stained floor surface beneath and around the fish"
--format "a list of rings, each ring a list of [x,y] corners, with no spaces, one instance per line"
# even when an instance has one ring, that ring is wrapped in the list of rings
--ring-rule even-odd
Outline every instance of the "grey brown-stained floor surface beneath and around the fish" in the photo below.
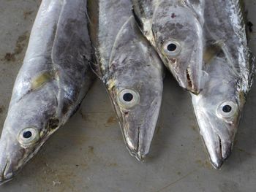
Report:
[[[0,0],[0,127],[22,64],[40,0]],[[255,0],[247,0],[256,21]],[[256,31],[256,28],[254,28]],[[256,33],[251,34],[256,54]],[[78,113],[0,192],[14,191],[256,191],[256,85],[249,94],[233,154],[211,167],[188,93],[170,75],[151,154],[143,164],[124,147],[103,85],[94,83]]]

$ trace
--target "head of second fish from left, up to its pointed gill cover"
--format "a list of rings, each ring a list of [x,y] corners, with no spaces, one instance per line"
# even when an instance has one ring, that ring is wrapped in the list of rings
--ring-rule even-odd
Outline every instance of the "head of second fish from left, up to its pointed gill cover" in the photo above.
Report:
[[[148,154],[162,102],[161,60],[131,18],[119,33],[107,88],[129,152]]]

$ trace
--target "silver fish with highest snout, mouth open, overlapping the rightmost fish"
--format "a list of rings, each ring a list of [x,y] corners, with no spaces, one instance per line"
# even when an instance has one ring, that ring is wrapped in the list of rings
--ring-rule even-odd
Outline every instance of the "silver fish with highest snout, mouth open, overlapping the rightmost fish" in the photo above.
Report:
[[[181,88],[203,89],[204,0],[132,0],[144,36]]]

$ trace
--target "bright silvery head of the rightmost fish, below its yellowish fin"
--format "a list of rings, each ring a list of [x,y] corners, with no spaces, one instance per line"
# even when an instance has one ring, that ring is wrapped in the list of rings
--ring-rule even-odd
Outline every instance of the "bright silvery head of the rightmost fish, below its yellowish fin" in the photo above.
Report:
[[[231,153],[245,103],[241,78],[227,64],[216,58],[209,64],[205,89],[192,95],[192,102],[211,163],[217,169]]]

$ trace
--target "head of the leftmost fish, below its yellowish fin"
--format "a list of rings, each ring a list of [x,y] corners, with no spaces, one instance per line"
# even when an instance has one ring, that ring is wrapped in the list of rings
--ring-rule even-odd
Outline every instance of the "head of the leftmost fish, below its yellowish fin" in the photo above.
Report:
[[[11,180],[59,126],[50,89],[28,93],[10,107],[0,139],[0,184]]]

